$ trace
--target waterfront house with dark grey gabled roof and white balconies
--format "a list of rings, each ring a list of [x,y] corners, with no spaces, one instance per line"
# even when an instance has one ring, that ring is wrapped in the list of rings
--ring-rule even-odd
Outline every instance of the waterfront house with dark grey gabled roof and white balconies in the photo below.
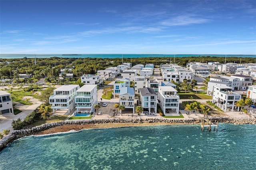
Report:
[[[148,111],[149,113],[157,113],[157,94],[154,89],[148,87],[140,89],[140,102],[144,111]]]

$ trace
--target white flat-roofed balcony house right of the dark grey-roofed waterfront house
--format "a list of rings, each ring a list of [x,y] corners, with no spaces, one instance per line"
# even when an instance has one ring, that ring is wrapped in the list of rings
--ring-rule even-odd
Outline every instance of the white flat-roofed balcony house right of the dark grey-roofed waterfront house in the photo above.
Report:
[[[158,88],[158,104],[164,115],[179,114],[180,96],[177,94],[178,91],[171,86],[159,86]]]

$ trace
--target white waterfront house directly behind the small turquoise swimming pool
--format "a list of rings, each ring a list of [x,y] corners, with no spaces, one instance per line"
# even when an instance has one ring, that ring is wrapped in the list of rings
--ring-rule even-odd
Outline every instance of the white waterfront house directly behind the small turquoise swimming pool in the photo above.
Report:
[[[77,112],[94,112],[96,104],[98,104],[97,85],[83,85],[76,91],[75,107]]]

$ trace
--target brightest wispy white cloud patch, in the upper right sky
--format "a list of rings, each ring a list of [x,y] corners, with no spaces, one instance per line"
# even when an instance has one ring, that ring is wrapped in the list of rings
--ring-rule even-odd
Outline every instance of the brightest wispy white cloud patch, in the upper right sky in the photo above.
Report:
[[[206,18],[200,18],[193,14],[186,14],[170,18],[169,20],[164,20],[160,22],[160,24],[163,26],[189,26],[192,24],[202,24],[206,22],[210,22],[210,20]]]

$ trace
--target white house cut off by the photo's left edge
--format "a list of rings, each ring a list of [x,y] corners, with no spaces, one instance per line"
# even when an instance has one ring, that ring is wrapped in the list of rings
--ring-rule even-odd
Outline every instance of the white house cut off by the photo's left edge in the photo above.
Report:
[[[10,93],[0,90],[0,115],[4,113],[14,113],[12,107],[12,97]]]

